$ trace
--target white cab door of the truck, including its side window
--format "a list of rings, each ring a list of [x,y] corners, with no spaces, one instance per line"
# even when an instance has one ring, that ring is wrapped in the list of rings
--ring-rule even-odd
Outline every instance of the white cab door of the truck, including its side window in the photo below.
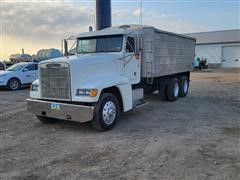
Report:
[[[139,50],[137,49],[137,36],[126,37],[126,47],[124,56],[125,76],[128,77],[131,84],[140,82],[141,59]]]

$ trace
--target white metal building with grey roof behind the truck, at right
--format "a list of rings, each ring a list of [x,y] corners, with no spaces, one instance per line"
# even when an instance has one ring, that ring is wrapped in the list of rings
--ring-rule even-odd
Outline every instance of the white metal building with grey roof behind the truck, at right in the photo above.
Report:
[[[240,68],[240,29],[186,34],[197,39],[196,56],[210,67]]]

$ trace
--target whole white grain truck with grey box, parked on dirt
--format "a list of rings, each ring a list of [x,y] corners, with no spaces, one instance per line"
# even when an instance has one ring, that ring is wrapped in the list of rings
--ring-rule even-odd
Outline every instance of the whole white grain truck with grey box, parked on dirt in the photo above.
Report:
[[[28,110],[42,122],[91,121],[109,130],[119,113],[144,104],[144,92],[186,96],[194,51],[195,39],[151,26],[81,33],[74,56],[40,62]]]

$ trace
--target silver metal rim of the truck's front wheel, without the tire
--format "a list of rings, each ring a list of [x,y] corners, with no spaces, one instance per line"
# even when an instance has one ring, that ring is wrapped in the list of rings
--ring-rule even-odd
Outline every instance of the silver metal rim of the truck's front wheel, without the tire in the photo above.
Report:
[[[116,117],[116,106],[112,101],[106,102],[103,107],[103,121],[105,124],[112,124]]]

